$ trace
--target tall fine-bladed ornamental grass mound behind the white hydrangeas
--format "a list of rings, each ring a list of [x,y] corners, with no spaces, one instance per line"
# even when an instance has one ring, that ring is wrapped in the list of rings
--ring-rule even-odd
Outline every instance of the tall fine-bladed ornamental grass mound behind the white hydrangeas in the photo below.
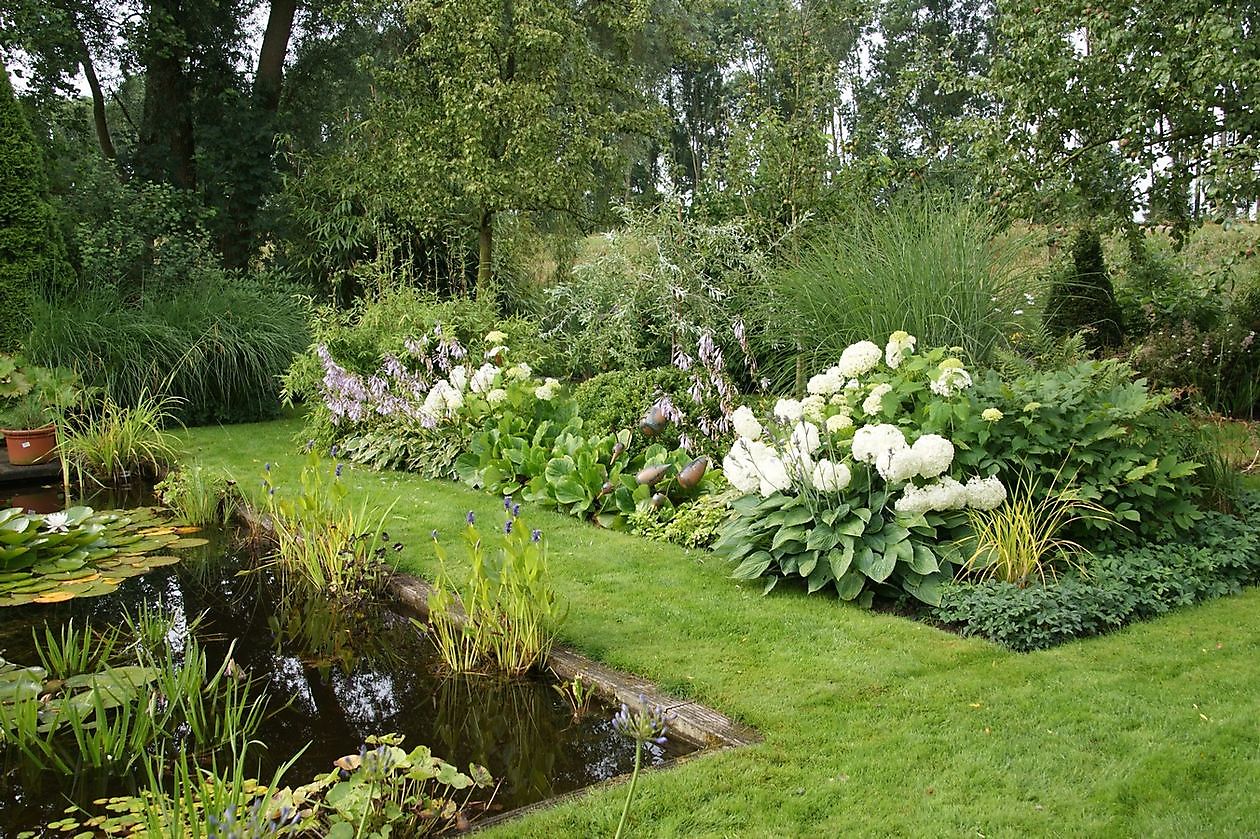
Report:
[[[854,205],[774,277],[771,378],[799,391],[805,369],[850,343],[905,330],[930,346],[993,358],[1029,309],[1022,243],[975,208],[931,197]]]

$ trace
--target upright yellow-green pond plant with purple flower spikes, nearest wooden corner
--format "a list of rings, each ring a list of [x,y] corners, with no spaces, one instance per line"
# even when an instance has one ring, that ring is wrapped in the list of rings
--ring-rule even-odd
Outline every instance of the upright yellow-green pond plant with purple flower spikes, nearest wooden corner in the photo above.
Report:
[[[451,673],[524,675],[547,660],[567,612],[547,573],[542,532],[529,529],[510,496],[503,505],[507,519],[493,543],[467,514],[464,585],[433,532],[441,571],[428,597],[428,631]]]

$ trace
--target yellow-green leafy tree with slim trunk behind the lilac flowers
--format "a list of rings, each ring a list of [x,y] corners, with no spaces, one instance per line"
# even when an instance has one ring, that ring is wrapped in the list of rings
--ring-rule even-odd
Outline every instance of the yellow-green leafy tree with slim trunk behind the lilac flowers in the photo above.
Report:
[[[577,4],[412,0],[406,13],[412,40],[374,102],[373,165],[421,228],[476,228],[481,286],[495,215],[582,214],[650,113]],[[640,25],[641,10],[621,24]]]

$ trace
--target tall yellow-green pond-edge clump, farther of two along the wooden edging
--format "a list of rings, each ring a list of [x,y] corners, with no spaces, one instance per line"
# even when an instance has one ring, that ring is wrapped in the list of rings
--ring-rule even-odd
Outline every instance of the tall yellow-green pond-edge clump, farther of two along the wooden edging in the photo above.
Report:
[[[271,464],[265,465],[262,500],[271,523],[273,552],[261,566],[271,571],[286,601],[310,598],[357,605],[378,595],[392,571],[387,562],[389,511],[346,500],[341,466],[314,447],[299,476],[299,491],[277,493]],[[394,551],[401,543],[393,545]]]

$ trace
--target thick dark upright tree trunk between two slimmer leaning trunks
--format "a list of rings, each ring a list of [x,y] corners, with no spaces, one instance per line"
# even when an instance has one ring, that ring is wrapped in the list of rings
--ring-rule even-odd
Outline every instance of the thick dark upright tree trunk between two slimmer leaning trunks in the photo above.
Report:
[[[145,106],[136,170],[180,189],[197,186],[193,165],[192,84],[184,72],[186,33],[180,0],[149,0],[145,45]]]

